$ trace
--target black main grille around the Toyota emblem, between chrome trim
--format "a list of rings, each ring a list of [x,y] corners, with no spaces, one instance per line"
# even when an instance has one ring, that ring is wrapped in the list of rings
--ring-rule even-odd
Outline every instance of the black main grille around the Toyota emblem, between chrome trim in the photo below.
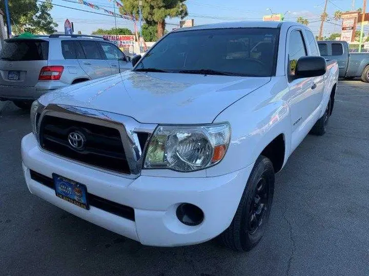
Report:
[[[83,149],[74,149],[68,141],[71,132],[85,136]],[[40,146],[79,162],[119,173],[130,173],[117,129],[59,117],[44,116],[39,130]]]

